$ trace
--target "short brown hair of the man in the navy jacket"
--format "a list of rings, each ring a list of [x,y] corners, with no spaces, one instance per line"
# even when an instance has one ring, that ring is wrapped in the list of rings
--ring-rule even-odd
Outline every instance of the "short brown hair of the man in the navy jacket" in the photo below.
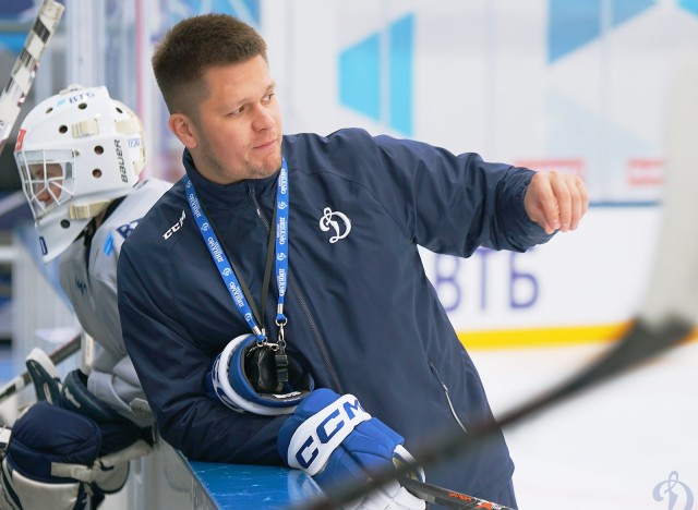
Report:
[[[202,14],[170,28],[152,63],[170,113],[195,116],[196,105],[208,94],[203,80],[208,69],[256,56],[267,60],[266,42],[254,28],[228,14]]]

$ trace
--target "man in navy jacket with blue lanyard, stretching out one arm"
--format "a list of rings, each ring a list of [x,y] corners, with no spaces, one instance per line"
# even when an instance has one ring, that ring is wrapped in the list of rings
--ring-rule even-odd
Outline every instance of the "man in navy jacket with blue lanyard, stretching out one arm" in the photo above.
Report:
[[[163,437],[194,460],[287,464],[323,481],[328,465],[340,473],[360,457],[357,434],[392,452],[491,418],[418,245],[462,257],[479,246],[524,252],[577,227],[583,183],[354,129],[282,135],[264,40],[222,14],[180,22],[153,63],[186,175],[124,244],[119,305]],[[270,390],[248,371],[267,341],[272,357],[279,345],[287,356],[265,365],[280,381]],[[312,384],[284,384],[286,363]],[[265,413],[269,394],[302,399]],[[299,447],[312,416],[329,420],[340,401],[349,409],[347,394],[360,421],[397,439],[347,421],[341,445]],[[310,471],[317,453],[325,463]],[[500,434],[425,475],[514,507],[513,472]]]

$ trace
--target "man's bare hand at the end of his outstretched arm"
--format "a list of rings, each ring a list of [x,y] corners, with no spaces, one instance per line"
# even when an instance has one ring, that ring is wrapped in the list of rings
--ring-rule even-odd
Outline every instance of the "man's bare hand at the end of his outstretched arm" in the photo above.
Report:
[[[545,233],[575,230],[589,207],[587,186],[577,175],[538,172],[526,191],[524,207]]]

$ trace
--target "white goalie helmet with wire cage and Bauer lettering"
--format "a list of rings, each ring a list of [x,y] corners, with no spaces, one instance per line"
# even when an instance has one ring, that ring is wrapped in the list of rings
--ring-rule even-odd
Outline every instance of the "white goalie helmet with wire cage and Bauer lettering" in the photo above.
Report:
[[[143,125],[106,87],[72,86],[26,116],[14,158],[48,263],[139,182]]]

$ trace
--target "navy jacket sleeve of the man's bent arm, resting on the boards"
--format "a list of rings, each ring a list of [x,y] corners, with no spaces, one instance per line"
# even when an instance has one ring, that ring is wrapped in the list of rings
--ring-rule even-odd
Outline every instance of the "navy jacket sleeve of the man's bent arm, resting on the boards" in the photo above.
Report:
[[[192,460],[281,464],[276,436],[286,417],[236,413],[205,396],[212,356],[173,319],[173,300],[185,296],[139,265],[129,244],[119,258],[123,339],[161,437]]]

